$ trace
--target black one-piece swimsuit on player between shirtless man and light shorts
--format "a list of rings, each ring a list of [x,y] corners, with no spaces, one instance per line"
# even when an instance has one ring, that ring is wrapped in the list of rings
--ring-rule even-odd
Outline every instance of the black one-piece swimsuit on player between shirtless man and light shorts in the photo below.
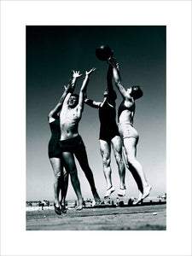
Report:
[[[99,139],[110,143],[113,137],[119,136],[119,131],[115,121],[115,108],[109,105],[108,101],[99,108],[99,119],[101,123]]]

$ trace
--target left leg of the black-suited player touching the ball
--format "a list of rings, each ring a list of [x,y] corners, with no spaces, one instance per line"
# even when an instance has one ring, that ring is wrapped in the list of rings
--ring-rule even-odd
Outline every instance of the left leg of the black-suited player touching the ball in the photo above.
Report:
[[[111,194],[110,189],[113,189],[112,185],[112,179],[111,179],[111,148],[110,145],[103,140],[99,140],[100,142],[100,151],[102,154],[102,166],[103,166],[103,172],[107,183],[107,194]],[[113,189],[114,191],[114,189]],[[108,193],[109,192],[109,193]],[[105,197],[107,197],[107,194]]]

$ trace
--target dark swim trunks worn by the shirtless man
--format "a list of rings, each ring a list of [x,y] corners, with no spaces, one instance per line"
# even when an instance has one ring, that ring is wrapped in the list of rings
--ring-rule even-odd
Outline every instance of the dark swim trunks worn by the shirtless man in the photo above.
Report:
[[[80,136],[72,137],[67,140],[62,140],[59,142],[61,152],[70,152],[75,154],[79,150],[83,150],[84,142]]]

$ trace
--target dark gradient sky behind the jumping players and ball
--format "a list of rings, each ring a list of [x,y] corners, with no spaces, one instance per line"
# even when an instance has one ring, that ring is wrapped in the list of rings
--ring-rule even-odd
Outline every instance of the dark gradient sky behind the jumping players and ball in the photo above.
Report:
[[[72,70],[96,67],[88,84],[88,96],[102,102],[108,65],[96,59],[102,44],[114,50],[125,88],[139,84],[134,126],[139,132],[137,159],[152,185],[152,196],[166,192],[166,26],[26,26],[26,200],[53,200],[54,174],[48,158],[48,113],[55,107]],[[76,85],[79,92],[83,78]],[[117,92],[117,108],[122,97]],[[99,150],[97,109],[84,106],[79,134],[94,173],[96,188],[106,190]],[[112,153],[112,179],[119,189],[118,168]],[[83,196],[92,197],[84,172],[77,163]],[[126,170],[128,196],[137,196],[137,185]],[[71,182],[67,199],[76,198]]]

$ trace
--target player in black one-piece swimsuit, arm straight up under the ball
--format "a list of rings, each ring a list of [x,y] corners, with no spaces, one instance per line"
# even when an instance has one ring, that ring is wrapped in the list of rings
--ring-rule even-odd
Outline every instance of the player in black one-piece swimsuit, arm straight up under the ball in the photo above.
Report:
[[[103,102],[94,102],[85,98],[84,102],[92,108],[98,108],[100,119],[100,151],[102,154],[102,166],[104,177],[107,183],[107,191],[104,198],[108,198],[114,191],[112,183],[111,162],[111,145],[113,147],[113,154],[118,165],[119,170],[119,196],[125,196],[125,165],[122,159],[122,140],[119,136],[118,126],[116,124],[116,110],[115,100],[117,98],[116,92],[113,90],[113,67],[108,66],[107,84],[108,88],[104,91]]]

